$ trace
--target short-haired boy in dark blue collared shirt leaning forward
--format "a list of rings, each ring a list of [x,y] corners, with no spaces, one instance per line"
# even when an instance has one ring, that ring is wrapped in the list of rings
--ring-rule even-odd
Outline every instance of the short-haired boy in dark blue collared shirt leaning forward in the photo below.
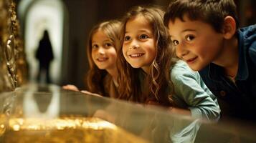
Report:
[[[256,25],[238,29],[232,0],[176,0],[164,16],[176,55],[199,71],[223,117],[256,119]]]

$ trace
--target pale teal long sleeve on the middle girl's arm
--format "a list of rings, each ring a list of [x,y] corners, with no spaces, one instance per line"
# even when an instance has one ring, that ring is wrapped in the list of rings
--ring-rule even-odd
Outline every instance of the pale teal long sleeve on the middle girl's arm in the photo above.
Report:
[[[192,117],[209,120],[219,119],[217,98],[204,84],[197,71],[192,71],[184,61],[177,61],[171,69],[174,84],[174,103],[183,109],[190,109]]]

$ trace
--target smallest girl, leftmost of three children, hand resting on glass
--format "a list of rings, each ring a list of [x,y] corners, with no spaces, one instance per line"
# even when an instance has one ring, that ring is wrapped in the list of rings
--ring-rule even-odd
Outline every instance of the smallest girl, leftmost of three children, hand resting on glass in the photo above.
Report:
[[[87,87],[89,92],[104,97],[117,97],[116,69],[120,21],[105,21],[93,27],[87,42],[87,57],[90,69],[87,73]],[[64,89],[79,91],[74,85],[67,85]],[[88,92],[85,92],[88,93]]]

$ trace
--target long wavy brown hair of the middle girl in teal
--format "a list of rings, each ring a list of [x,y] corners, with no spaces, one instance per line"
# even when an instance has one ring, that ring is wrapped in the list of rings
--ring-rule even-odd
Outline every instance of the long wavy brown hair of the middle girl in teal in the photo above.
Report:
[[[163,14],[163,10],[157,6],[136,6],[123,17],[120,27],[121,44],[123,44],[127,21],[136,16],[143,16],[153,29],[156,40],[156,57],[150,66],[150,74],[146,74],[143,73],[142,69],[135,69],[125,61],[122,49],[118,49],[118,92],[120,99],[140,103],[146,103],[153,99],[154,102],[163,105],[172,105],[169,95],[174,91],[170,80],[170,71],[177,59],[174,48],[171,46],[168,30],[163,24]],[[143,94],[145,92],[143,87],[150,87],[150,91]]]

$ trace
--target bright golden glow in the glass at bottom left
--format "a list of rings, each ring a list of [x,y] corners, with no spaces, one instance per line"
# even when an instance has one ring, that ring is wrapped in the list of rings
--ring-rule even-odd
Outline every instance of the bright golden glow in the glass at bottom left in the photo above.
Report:
[[[3,142],[138,142],[140,137],[125,132],[98,118],[62,117],[60,119],[14,118],[0,137]]]

